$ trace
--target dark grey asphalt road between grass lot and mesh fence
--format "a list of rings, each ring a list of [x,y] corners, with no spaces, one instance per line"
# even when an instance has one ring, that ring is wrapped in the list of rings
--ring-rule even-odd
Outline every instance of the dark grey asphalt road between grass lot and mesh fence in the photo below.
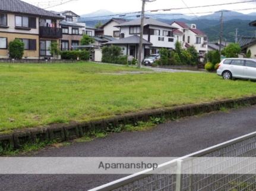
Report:
[[[39,151],[37,157],[181,157],[256,131],[256,106],[168,122],[89,143]],[[87,190],[122,176],[0,176],[0,190]]]

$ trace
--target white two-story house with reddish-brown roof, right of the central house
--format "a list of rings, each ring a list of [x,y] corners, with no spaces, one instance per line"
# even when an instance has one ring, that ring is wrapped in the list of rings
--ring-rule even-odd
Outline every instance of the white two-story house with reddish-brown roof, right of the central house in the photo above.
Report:
[[[174,21],[170,25],[178,28],[183,33],[182,46],[184,48],[194,46],[200,57],[204,57],[207,53],[207,35],[197,29],[197,25],[191,24],[191,26],[188,26],[185,22],[180,21]]]

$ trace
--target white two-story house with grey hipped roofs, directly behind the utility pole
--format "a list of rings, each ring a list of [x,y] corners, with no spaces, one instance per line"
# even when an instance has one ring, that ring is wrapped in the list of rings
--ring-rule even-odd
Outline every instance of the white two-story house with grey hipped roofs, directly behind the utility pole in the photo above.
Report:
[[[140,24],[141,20],[132,20],[116,25],[120,29],[120,39],[110,41],[106,44],[115,44],[122,47],[124,54],[138,58],[138,47],[140,44]],[[143,32],[143,57],[150,54],[159,53],[160,48],[174,49],[178,40],[177,35],[173,35],[176,27],[169,24],[145,18]]]

